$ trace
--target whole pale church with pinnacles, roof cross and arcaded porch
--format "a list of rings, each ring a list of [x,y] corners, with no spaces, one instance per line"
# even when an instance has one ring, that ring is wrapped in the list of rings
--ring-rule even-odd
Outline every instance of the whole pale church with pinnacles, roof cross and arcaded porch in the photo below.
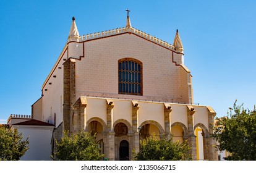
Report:
[[[169,44],[132,27],[129,15],[126,27],[82,36],[73,17],[32,119],[54,124],[58,140],[62,130],[96,132],[110,160],[132,159],[139,140],[153,133],[189,141],[194,160],[216,160],[216,113],[193,104],[183,51],[178,31]]]

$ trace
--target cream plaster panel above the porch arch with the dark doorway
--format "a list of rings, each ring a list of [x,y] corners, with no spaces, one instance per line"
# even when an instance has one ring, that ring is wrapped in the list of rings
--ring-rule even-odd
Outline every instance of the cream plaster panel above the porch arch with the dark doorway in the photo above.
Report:
[[[130,125],[132,125],[132,101],[117,99],[114,99],[113,101],[113,122],[116,122],[118,119],[126,119]]]

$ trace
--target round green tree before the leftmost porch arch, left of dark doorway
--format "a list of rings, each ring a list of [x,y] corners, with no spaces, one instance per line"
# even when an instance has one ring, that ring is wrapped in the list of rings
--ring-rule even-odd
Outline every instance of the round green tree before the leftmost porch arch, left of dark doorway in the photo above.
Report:
[[[100,153],[100,146],[96,143],[96,134],[88,132],[71,133],[64,131],[61,141],[56,140],[54,153],[62,161],[98,161],[104,154]]]

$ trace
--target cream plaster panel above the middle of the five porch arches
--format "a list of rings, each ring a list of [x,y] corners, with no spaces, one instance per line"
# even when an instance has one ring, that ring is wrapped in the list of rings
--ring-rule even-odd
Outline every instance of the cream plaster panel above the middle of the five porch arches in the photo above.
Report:
[[[164,129],[164,105],[163,103],[150,103],[139,101],[139,125],[146,120],[155,120]]]

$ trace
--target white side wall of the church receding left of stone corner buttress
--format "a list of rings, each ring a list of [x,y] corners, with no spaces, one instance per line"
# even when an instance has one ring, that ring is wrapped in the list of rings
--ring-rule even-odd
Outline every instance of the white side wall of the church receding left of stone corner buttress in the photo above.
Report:
[[[42,114],[43,121],[54,124],[54,113],[56,114],[56,127],[62,122],[62,109],[63,109],[63,59],[67,58],[67,51],[62,57],[62,60],[54,69],[53,74],[49,78],[45,87],[43,88],[42,98]],[[61,67],[59,69],[58,67]],[[56,75],[56,78],[53,76]],[[49,85],[49,83],[52,83]],[[45,91],[47,89],[47,91]]]

